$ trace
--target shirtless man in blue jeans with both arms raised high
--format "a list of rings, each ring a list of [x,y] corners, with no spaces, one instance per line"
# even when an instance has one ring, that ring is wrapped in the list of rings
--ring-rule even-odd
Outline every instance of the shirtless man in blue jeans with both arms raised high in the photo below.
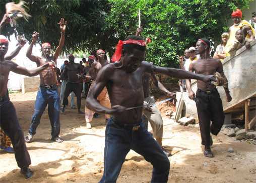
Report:
[[[39,33],[34,32],[32,36],[32,42],[27,50],[27,57],[36,63],[37,66],[41,66],[47,62],[57,63],[57,58],[62,50],[65,42],[66,24],[64,19],[59,21],[60,28],[60,40],[59,45],[53,56],[50,56],[51,45],[49,43],[42,44],[42,57],[36,57],[32,55],[33,45],[35,44]],[[59,96],[57,91],[57,75],[56,71],[45,70],[40,74],[40,88],[38,89],[35,111],[32,115],[32,121],[28,130],[28,135],[25,137],[26,142],[31,142],[33,136],[36,134],[36,128],[40,124],[41,116],[48,104],[48,115],[51,123],[51,140],[56,142],[62,142],[63,140],[58,136],[60,132],[59,122]]]

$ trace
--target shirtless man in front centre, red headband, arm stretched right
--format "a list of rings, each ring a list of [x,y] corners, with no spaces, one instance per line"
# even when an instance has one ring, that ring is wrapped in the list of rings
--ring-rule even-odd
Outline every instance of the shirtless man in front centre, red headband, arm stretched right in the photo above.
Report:
[[[106,126],[104,173],[100,182],[116,182],[130,149],[143,155],[153,165],[151,182],[167,182],[169,159],[141,121],[144,102],[142,76],[144,73],[156,72],[205,82],[213,77],[143,62],[146,44],[138,36],[129,36],[125,41],[119,41],[117,48],[114,55],[120,57],[120,61],[108,64],[99,71],[86,102],[89,109],[112,115]],[[104,87],[107,87],[111,108],[97,102],[97,96]]]

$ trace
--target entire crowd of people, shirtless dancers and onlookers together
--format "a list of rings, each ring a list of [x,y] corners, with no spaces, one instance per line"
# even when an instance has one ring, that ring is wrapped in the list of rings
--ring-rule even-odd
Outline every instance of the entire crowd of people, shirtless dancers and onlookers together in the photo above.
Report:
[[[163,68],[145,62],[146,41],[140,37],[142,29],[137,29],[136,35],[119,41],[112,63],[105,60],[105,51],[97,50],[96,58],[92,55],[88,65],[75,63],[75,57],[70,54],[69,61],[65,61],[60,70],[56,68],[57,58],[65,44],[67,21],[59,21],[60,39],[54,54],[50,43],[42,44],[40,57],[32,54],[39,33],[34,32],[26,56],[35,62],[37,68],[27,70],[11,61],[24,45],[19,42],[17,49],[6,56],[9,41],[0,36],[0,110],[1,128],[10,137],[13,151],[21,173],[29,178],[33,171],[29,169],[30,155],[26,143],[32,142],[40,119],[48,106],[48,115],[51,124],[51,140],[62,142],[60,138],[60,111],[63,113],[69,104],[74,107],[74,95],[77,98],[77,112],[81,111],[81,99],[86,97],[85,120],[86,127],[91,128],[94,113],[105,114],[106,135],[104,148],[104,172],[100,182],[116,182],[126,154],[133,149],[153,165],[151,182],[167,182],[171,154],[162,148],[163,120],[157,109],[154,97],[149,91],[150,80],[167,96],[175,98],[175,94],[168,91],[156,78],[155,74],[164,74],[175,77],[183,83],[183,90],[187,90],[189,98],[195,100],[200,121],[202,144],[205,146],[204,155],[214,157],[211,151],[213,140],[211,134],[217,135],[224,122],[222,101],[216,86],[212,84],[216,79],[213,74],[218,72],[222,76],[222,86],[226,92],[226,100],[230,102],[228,82],[224,75],[221,60],[227,54],[231,55],[243,45],[249,49],[249,40],[254,39],[255,31],[246,21],[241,20],[241,11],[232,13],[234,25],[229,33],[222,35],[222,44],[217,47],[214,57],[210,57],[211,45],[207,39],[199,39],[196,47],[185,50],[184,57],[180,58],[181,68]],[[7,24],[5,15],[1,24]],[[245,38],[246,37],[246,38]],[[229,39],[228,39],[229,38]],[[230,40],[233,42],[230,43]],[[229,48],[228,51],[227,48]],[[197,55],[198,54],[198,55]],[[95,61],[97,60],[97,61]],[[182,62],[185,61],[184,64]],[[40,86],[35,100],[34,113],[28,134],[24,137],[16,116],[14,105],[9,99],[7,83],[9,72],[27,76],[40,75]],[[198,80],[196,95],[191,89],[191,79]],[[82,82],[81,85],[81,80]],[[60,84],[60,81],[61,84]],[[184,86],[184,83],[186,87]],[[82,92],[83,91],[83,92]],[[59,97],[60,96],[60,97]],[[73,100],[73,102],[72,102]],[[62,107],[60,106],[62,105]],[[147,120],[153,129],[153,136],[147,130]],[[212,121],[212,122],[211,122]],[[155,139],[156,140],[155,140]]]

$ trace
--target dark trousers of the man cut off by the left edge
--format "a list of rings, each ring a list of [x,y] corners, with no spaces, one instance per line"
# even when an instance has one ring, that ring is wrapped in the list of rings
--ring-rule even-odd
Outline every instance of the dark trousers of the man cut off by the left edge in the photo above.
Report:
[[[18,166],[20,168],[27,168],[31,164],[31,160],[25,144],[24,134],[14,105],[8,99],[0,102],[0,126],[11,138]]]

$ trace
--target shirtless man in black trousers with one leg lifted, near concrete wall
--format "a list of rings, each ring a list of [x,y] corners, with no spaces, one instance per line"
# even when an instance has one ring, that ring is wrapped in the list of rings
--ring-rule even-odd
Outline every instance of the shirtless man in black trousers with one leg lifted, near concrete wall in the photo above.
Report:
[[[189,65],[189,71],[195,71],[195,73],[203,75],[219,72],[225,79],[223,87],[226,92],[227,102],[230,102],[232,98],[229,94],[228,82],[222,69],[222,63],[220,60],[210,57],[209,40],[198,40],[196,50],[197,53],[200,54],[200,59],[193,61]],[[189,80],[186,80],[186,88],[189,93],[189,98],[195,100],[197,105],[202,145],[205,145],[204,155],[206,157],[214,157],[210,147],[213,144],[210,133],[217,135],[221,130],[225,118],[218,90],[213,84],[198,81],[198,90],[195,96]],[[210,121],[212,121],[212,123]]]

